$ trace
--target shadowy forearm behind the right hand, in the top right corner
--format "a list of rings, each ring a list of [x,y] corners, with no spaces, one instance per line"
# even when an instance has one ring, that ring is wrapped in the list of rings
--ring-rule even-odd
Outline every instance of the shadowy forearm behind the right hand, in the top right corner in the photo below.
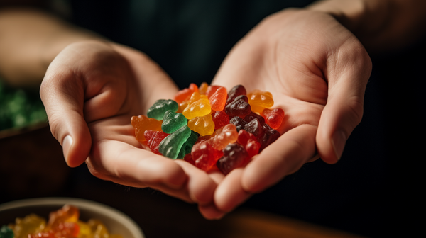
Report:
[[[334,16],[370,52],[404,47],[426,33],[426,1],[324,0],[307,8]]]

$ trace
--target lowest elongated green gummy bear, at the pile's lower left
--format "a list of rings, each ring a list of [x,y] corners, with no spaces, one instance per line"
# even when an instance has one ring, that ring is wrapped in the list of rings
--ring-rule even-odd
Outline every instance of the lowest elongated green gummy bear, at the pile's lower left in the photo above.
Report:
[[[170,159],[178,158],[178,154],[182,145],[188,140],[191,135],[191,129],[187,125],[182,126],[172,134],[168,135],[160,142],[158,151],[165,157]]]

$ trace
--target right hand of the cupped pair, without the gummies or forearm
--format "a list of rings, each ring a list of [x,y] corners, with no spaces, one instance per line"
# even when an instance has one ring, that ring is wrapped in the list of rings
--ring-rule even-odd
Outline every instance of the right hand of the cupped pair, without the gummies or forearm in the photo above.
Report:
[[[231,50],[212,84],[273,94],[283,108],[282,135],[241,169],[217,181],[220,217],[319,157],[334,164],[361,121],[371,60],[359,40],[332,16],[288,9],[262,21]]]

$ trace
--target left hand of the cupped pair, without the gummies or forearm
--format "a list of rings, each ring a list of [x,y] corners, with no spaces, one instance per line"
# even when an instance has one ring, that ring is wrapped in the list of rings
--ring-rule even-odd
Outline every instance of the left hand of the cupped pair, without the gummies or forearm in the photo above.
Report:
[[[203,171],[141,147],[131,116],[177,87],[143,53],[107,42],[67,46],[48,67],[40,96],[69,166],[87,163],[100,179],[149,186],[187,202],[210,203],[216,183]]]

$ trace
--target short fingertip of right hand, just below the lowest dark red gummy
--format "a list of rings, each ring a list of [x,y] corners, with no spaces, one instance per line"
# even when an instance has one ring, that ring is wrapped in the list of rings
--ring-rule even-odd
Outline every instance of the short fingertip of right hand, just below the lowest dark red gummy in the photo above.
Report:
[[[244,169],[242,168],[234,169],[217,186],[214,192],[214,204],[220,211],[230,212],[252,195],[241,186],[243,173]]]

